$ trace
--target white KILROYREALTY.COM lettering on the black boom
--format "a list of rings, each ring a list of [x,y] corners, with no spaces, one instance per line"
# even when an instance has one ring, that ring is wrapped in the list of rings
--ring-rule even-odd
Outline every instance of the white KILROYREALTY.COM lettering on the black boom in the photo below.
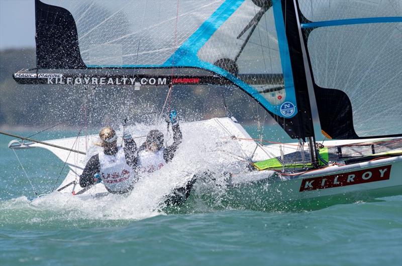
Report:
[[[48,78],[47,84],[66,85],[166,85],[166,78],[131,78],[131,77],[64,77]]]

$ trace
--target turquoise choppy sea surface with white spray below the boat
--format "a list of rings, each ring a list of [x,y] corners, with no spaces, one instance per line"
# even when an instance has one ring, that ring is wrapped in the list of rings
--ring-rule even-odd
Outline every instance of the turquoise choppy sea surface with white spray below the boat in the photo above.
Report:
[[[50,152],[30,149],[16,151],[23,170],[7,148],[13,139],[0,135],[0,265],[402,265],[402,196],[314,211],[224,207],[191,196],[181,209],[147,210],[152,189],[144,202],[124,198],[124,205],[34,199],[24,171],[42,194],[67,169]]]

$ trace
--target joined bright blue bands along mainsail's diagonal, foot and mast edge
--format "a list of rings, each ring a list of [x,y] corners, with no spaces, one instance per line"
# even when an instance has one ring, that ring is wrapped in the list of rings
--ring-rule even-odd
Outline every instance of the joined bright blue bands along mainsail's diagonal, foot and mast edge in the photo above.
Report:
[[[149,67],[198,67],[213,71],[250,94],[255,100],[260,102],[266,109],[272,113],[283,117],[280,113],[280,105],[273,105],[251,85],[245,83],[240,78],[232,75],[224,69],[214,64],[200,60],[197,52],[205,43],[214,35],[214,33],[227,21],[233,13],[239,9],[245,0],[226,0],[212,15],[208,18],[162,65],[88,65],[92,68],[149,68]],[[275,20],[276,32],[278,33],[279,53],[281,59],[282,72],[284,76],[284,84],[286,90],[285,101],[294,105],[294,113],[287,118],[293,117],[297,113],[296,97],[294,92],[293,74],[290,65],[289,48],[285,34],[285,27],[282,14],[282,6],[280,0],[273,0],[273,13]]]

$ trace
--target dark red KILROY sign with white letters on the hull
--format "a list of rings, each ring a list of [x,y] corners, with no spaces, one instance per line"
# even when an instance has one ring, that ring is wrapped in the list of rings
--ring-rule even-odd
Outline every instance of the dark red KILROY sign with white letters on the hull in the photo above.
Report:
[[[390,171],[391,166],[388,165],[361,171],[343,173],[339,175],[306,178],[302,180],[299,191],[302,192],[317,189],[335,188],[388,180]]]

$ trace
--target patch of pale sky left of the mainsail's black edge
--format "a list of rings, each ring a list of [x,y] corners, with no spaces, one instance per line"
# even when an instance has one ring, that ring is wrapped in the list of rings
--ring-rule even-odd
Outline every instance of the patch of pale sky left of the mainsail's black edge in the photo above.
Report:
[[[0,0],[0,50],[35,47],[34,0]]]

